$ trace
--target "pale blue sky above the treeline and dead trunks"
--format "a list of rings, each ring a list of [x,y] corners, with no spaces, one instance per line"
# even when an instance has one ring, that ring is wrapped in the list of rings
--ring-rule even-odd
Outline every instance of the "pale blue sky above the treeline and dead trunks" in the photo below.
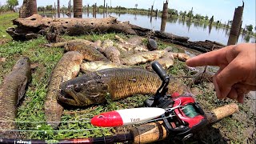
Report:
[[[60,0],[61,6],[67,6],[69,0]],[[5,3],[6,0],[0,0],[0,3]],[[18,0],[19,6],[22,5],[23,0]],[[38,6],[53,5],[53,0],[37,0]],[[57,0],[55,0],[57,4]],[[103,0],[83,0],[83,5],[92,5],[97,2],[97,5],[103,5]],[[162,10],[162,3],[164,0],[106,0],[110,6],[124,6],[134,7],[138,4],[138,8],[148,9],[154,2],[154,9]],[[244,0],[245,8],[243,14],[243,24],[252,24],[256,26],[256,2],[255,0]],[[214,15],[214,21],[221,21],[222,23],[232,20],[234,16],[234,9],[238,6],[242,6],[242,0],[169,0],[169,8],[176,9],[178,11],[191,10],[193,7],[194,14],[208,15],[211,17]]]

